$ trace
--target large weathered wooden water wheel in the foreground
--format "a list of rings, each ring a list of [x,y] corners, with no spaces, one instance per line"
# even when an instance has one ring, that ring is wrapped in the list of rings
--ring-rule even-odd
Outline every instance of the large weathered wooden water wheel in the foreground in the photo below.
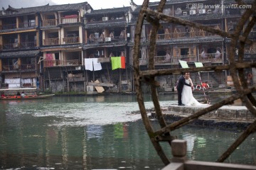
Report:
[[[243,1],[237,1],[238,4],[245,4]],[[181,128],[183,125],[190,123],[191,121],[199,118],[210,111],[214,111],[221,106],[224,106],[228,103],[233,103],[233,101],[240,98],[242,102],[245,104],[247,109],[256,117],[256,100],[252,96],[252,92],[255,91],[256,86],[248,86],[247,80],[245,79],[245,69],[256,67],[256,62],[244,62],[244,50],[245,44],[252,43],[251,40],[247,39],[250,30],[256,23],[256,1],[252,2],[252,8],[249,8],[242,14],[240,21],[238,21],[238,25],[235,28],[233,33],[227,33],[223,30],[217,28],[210,28],[208,26],[203,26],[198,23],[193,23],[191,21],[186,21],[181,18],[175,18],[173,16],[167,16],[161,13],[164,9],[164,5],[166,1],[161,0],[159,2],[159,6],[157,7],[157,11],[152,11],[148,8],[149,0],[144,0],[142,4],[141,11],[139,12],[139,18],[137,20],[137,26],[135,30],[135,40],[134,40],[134,84],[135,84],[135,91],[137,93],[137,101],[139,103],[139,109],[142,115],[142,120],[144,122],[144,126],[146,131],[151,139],[156,152],[161,157],[162,162],[165,165],[170,163],[168,157],[164,150],[162,149],[160,142],[168,142],[171,146],[171,140],[174,140],[174,137],[171,135],[171,131],[176,130],[177,128]],[[139,69],[139,47],[140,47],[140,40],[141,40],[141,33],[142,33],[142,26],[144,20],[148,21],[152,25],[151,29],[151,37],[149,42],[149,65],[148,70],[141,71]],[[154,53],[156,49],[156,33],[157,30],[160,28],[161,24],[160,21],[165,21],[169,23],[176,23],[182,26],[190,26],[193,28],[197,28],[199,30],[206,30],[209,33],[214,33],[223,36],[224,38],[230,38],[230,46],[237,47],[239,46],[239,54],[238,60],[235,60],[235,48],[229,49],[229,64],[223,64],[218,66],[208,66],[208,67],[198,67],[198,68],[188,68],[188,69],[155,69],[154,67]],[[247,23],[247,25],[245,24]],[[178,120],[174,123],[167,124],[164,116],[161,112],[161,108],[159,105],[158,94],[156,88],[159,86],[159,83],[155,80],[155,77],[161,75],[171,75],[171,74],[181,74],[181,72],[201,72],[201,71],[212,71],[215,70],[216,72],[221,70],[229,70],[230,74],[232,75],[233,82],[235,89],[237,91],[236,94],[233,94],[229,98],[225,98],[223,101],[215,103],[208,108],[204,108],[193,115],[190,115],[186,118]],[[142,96],[142,81],[146,82],[150,86],[151,89],[151,96],[152,101],[154,103],[154,109],[156,111],[156,116],[160,125],[159,130],[153,130],[151,126],[151,122],[146,114],[146,108],[144,106],[144,99]],[[241,82],[241,83],[239,83]],[[230,154],[252,133],[256,130],[256,118],[251,123],[247,129],[242,132],[242,135],[238,137],[235,142],[230,145],[230,147],[223,152],[223,154],[219,157],[217,162],[224,162]]]

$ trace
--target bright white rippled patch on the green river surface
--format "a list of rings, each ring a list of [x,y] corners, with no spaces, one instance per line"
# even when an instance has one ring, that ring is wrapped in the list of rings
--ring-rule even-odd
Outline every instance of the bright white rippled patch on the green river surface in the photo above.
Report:
[[[168,106],[171,101],[160,102],[161,107]],[[144,103],[146,109],[153,108],[152,102]],[[137,113],[134,113],[138,111]],[[21,108],[21,114],[32,114],[36,117],[54,117],[51,125],[85,126],[108,125],[132,122],[142,118],[137,102],[123,103],[42,103],[34,107]]]

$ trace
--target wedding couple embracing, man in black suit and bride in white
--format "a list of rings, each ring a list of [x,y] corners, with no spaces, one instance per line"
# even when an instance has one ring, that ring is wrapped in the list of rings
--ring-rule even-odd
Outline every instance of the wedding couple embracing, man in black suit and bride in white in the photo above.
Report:
[[[178,106],[202,106],[192,94],[193,83],[190,78],[190,74],[186,72],[182,73],[178,78]]]

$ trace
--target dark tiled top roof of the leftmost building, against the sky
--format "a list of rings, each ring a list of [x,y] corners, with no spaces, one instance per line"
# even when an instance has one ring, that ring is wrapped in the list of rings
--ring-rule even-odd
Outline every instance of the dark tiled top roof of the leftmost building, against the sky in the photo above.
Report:
[[[20,16],[28,13],[43,13],[43,12],[54,12],[54,11],[76,11],[80,8],[85,8],[85,5],[87,5],[87,2],[82,2],[79,4],[64,4],[64,5],[53,5],[49,6],[47,4],[46,6],[35,6],[35,7],[29,7],[29,8],[13,8],[9,6],[5,10],[6,14],[0,15],[0,18],[6,17],[6,16]],[[14,11],[13,13],[8,13],[8,11]]]

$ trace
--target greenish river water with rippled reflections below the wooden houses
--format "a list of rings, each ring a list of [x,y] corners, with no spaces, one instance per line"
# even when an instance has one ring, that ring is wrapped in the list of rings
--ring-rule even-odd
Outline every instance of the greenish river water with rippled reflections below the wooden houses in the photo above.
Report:
[[[161,106],[176,101],[161,96]],[[153,105],[145,103],[146,108]],[[0,102],[0,169],[161,169],[134,96],[54,97]],[[157,126],[157,123],[153,122]],[[240,135],[184,127],[189,159],[214,162]],[[256,164],[255,135],[228,162]],[[171,158],[168,145],[163,145]],[[242,155],[242,157],[241,157]]]

